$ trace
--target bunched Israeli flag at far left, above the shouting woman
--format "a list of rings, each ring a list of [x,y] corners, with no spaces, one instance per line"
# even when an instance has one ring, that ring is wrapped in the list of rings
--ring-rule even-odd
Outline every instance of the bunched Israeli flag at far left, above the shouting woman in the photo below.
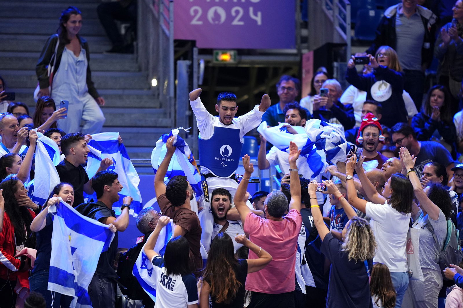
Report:
[[[60,163],[60,153],[56,142],[37,132],[35,149],[35,179],[26,184],[27,195],[32,202],[44,205],[51,191],[61,183],[55,166]]]

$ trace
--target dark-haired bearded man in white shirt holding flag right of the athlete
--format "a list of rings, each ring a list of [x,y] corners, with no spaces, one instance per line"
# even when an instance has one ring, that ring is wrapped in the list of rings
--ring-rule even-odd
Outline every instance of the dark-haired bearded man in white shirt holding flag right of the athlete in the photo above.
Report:
[[[310,116],[307,115],[307,109],[300,107],[297,102],[286,104],[283,111],[285,113],[285,123],[289,124],[286,126],[286,133],[297,134],[296,130],[292,126],[303,127],[306,125],[306,121],[310,119]],[[267,140],[262,135],[260,138],[261,145],[259,148],[259,153],[257,154],[257,164],[259,169],[266,170],[269,169],[270,166],[279,165],[284,174],[289,174],[288,152],[282,151],[279,148],[273,146],[270,148],[269,154],[265,154]],[[299,166],[299,173],[301,173],[304,178],[310,179],[312,172],[310,172],[310,169],[307,165],[307,159],[305,157],[299,157],[297,160],[297,166]]]

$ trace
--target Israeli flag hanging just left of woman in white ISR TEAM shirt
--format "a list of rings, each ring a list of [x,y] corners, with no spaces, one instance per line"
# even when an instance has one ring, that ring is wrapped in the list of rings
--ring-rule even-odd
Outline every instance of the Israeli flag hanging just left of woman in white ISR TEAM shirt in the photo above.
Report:
[[[160,256],[164,256],[166,246],[169,240],[174,236],[174,221],[171,219],[170,222],[161,229],[159,236],[157,237],[154,251],[159,253]],[[145,244],[146,245],[146,244]],[[141,287],[150,296],[150,298],[156,302],[156,276],[153,275],[153,264],[144,253],[144,247],[138,255],[138,259],[133,265],[132,274],[138,280]]]

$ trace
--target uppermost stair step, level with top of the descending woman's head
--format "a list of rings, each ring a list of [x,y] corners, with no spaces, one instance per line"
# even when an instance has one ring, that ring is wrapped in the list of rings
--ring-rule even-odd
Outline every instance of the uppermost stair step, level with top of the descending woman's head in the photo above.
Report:
[[[51,18],[58,21],[61,12],[68,6],[77,6],[82,12],[82,18],[98,18],[94,1],[86,1],[88,3],[72,2],[46,2],[46,1],[5,1],[2,2],[0,10],[0,18],[18,17],[18,18]]]

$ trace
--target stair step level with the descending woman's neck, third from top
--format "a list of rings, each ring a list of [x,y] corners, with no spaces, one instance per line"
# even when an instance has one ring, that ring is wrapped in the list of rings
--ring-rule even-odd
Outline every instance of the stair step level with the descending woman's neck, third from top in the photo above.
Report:
[[[56,29],[55,29],[56,30]],[[40,52],[44,48],[47,38],[51,34],[55,33],[52,31],[50,33],[44,34],[0,34],[0,50],[2,51],[35,51],[40,55]],[[91,55],[93,53],[102,53],[105,50],[111,48],[111,43],[106,35],[101,36],[85,36],[84,37],[88,42],[88,47],[90,49]]]

